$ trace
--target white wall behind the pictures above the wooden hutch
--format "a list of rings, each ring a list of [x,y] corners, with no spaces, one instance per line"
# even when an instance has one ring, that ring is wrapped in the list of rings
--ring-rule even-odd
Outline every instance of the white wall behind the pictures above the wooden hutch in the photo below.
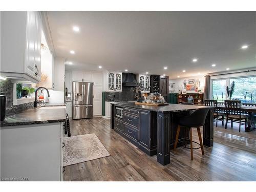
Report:
[[[185,77],[185,78],[178,78],[178,79],[169,79],[169,84],[170,83],[175,83],[175,91],[174,93],[178,93],[179,90],[181,89],[181,87],[183,88],[183,81],[186,79],[186,81],[188,82],[188,79],[199,79],[200,81],[200,87],[199,90],[201,90],[202,92],[204,92],[204,80],[205,77],[204,75],[199,75],[199,76],[193,76],[193,77]],[[172,88],[170,88],[169,86],[169,91]],[[187,93],[193,93],[193,91],[187,91]]]

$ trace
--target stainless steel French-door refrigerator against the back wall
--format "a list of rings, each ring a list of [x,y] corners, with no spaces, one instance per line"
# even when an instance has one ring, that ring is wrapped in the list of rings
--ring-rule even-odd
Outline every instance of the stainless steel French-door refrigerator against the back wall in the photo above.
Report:
[[[93,83],[73,81],[73,119],[93,117]]]

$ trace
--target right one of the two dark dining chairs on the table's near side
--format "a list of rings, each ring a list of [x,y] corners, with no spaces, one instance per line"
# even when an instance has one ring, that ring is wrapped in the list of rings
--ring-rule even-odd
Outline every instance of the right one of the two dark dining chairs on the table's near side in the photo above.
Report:
[[[233,127],[233,122],[239,123],[239,132],[241,131],[241,125],[243,124],[246,129],[247,116],[242,114],[241,112],[241,101],[225,100],[224,102],[225,102],[226,116],[227,116],[225,129],[227,129],[228,119],[231,120],[231,127]]]

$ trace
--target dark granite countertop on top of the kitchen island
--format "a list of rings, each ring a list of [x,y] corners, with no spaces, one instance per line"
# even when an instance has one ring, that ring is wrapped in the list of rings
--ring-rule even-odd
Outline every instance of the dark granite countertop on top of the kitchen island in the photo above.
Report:
[[[163,106],[149,106],[149,105],[136,105],[135,103],[127,102],[112,102],[115,105],[127,106],[129,108],[136,108],[141,110],[155,111],[155,112],[181,112],[191,111],[199,108],[214,108],[203,105],[185,105],[185,104],[168,104]]]

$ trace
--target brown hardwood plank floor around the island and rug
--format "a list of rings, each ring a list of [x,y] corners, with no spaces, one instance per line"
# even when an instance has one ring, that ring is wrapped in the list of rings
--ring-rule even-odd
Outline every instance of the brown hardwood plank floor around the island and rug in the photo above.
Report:
[[[170,164],[163,166],[156,156],[147,156],[111,130],[110,120],[100,117],[73,120],[72,136],[95,133],[111,156],[66,166],[64,180],[256,181],[256,138],[230,134],[230,128],[227,133],[223,132],[224,127],[215,130],[214,147],[204,147],[204,156],[200,149],[194,150],[191,161],[190,150],[179,147],[170,152]],[[250,133],[255,136],[253,132]],[[199,141],[196,129],[193,140]]]

